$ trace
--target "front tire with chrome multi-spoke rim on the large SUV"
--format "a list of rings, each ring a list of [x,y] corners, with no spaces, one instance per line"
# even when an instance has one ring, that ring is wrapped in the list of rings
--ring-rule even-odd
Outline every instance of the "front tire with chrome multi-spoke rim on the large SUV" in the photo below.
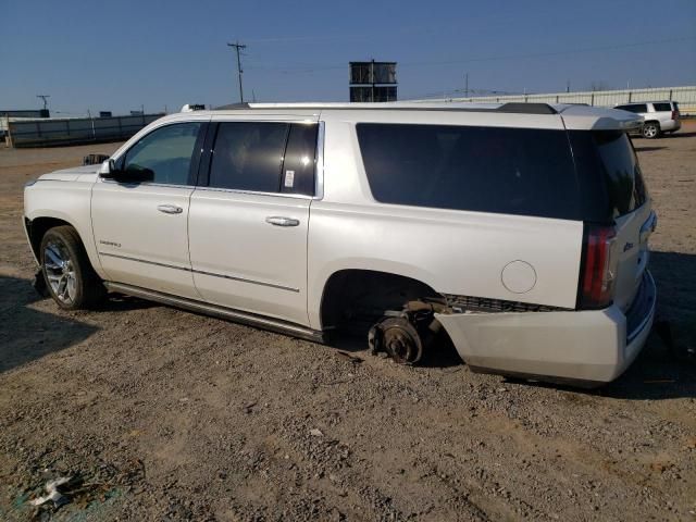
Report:
[[[48,291],[62,309],[90,309],[104,299],[107,290],[72,226],[57,226],[46,232],[40,260]]]

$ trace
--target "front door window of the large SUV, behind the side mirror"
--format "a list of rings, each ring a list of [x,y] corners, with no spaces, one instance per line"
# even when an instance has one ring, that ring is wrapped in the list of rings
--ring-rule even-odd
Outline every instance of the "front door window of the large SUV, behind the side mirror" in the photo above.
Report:
[[[146,174],[153,183],[192,184],[191,158],[201,125],[176,123],[152,130],[126,152],[123,170],[139,176]]]

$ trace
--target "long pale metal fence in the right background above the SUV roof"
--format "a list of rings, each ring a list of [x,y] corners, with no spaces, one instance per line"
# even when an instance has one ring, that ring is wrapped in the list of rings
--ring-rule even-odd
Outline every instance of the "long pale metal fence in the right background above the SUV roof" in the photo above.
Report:
[[[596,90],[586,92],[552,92],[547,95],[484,96],[447,98],[446,101],[473,102],[537,102],[537,103],[587,103],[588,105],[613,107],[635,101],[671,100],[679,102],[682,114],[696,114],[696,86],[659,87],[650,89]],[[419,100],[433,101],[433,100]]]

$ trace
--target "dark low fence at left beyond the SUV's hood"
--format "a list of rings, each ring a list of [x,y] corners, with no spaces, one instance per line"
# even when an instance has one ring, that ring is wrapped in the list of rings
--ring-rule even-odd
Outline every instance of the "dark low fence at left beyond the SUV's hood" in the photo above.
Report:
[[[5,120],[10,147],[89,144],[127,139],[163,114],[112,117]]]

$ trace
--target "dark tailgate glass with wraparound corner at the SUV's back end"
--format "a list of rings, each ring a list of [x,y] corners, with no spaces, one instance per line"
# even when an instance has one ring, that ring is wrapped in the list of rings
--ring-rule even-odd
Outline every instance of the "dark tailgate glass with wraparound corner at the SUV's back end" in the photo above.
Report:
[[[586,221],[608,222],[645,202],[641,166],[625,133],[573,130],[569,135]]]

